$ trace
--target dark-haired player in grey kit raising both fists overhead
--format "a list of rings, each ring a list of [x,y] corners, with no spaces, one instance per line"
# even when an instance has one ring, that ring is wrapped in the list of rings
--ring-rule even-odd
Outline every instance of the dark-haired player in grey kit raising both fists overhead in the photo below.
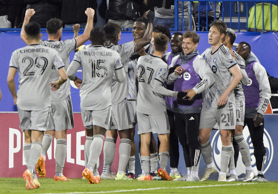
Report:
[[[23,26],[26,25],[30,18],[35,14],[34,9],[28,9],[25,13],[25,19]],[[82,35],[77,36],[76,38],[62,40],[62,30],[63,30],[63,21],[57,18],[50,19],[47,21],[47,34],[48,40],[40,40],[41,45],[54,48],[61,55],[63,62],[65,64],[65,69],[67,70],[69,66],[69,54],[76,47],[79,47],[89,39],[90,31],[93,28],[93,19],[94,19],[94,10],[92,8],[87,8],[85,14],[88,16],[87,25]],[[26,43],[24,37],[24,28],[21,29],[21,39]],[[58,74],[52,72],[51,80],[57,80]],[[56,137],[56,151],[55,151],[55,176],[54,180],[60,181],[70,181],[63,175],[63,168],[66,158],[66,132],[67,129],[74,128],[73,123],[73,110],[72,110],[72,101],[70,97],[70,84],[69,80],[63,84],[58,91],[51,91],[51,102],[52,102],[52,126],[47,129],[43,136],[43,149],[41,156],[39,157],[37,163],[37,172],[43,178],[46,175],[45,171],[45,155],[47,149],[50,147],[50,144],[54,137]],[[28,145],[25,145],[24,150],[28,150]]]

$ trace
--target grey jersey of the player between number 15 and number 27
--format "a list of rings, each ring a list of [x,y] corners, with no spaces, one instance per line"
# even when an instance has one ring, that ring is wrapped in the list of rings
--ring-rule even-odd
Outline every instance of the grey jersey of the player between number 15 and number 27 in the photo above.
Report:
[[[124,67],[125,73],[128,72],[127,67],[127,60],[129,57],[135,53],[136,51],[136,44],[134,42],[124,43],[121,45],[111,45],[107,47],[109,49],[115,50],[120,53],[121,62]],[[112,80],[112,104],[118,104],[123,99],[127,98],[128,96],[128,81],[127,78],[124,83],[117,82],[116,80]]]

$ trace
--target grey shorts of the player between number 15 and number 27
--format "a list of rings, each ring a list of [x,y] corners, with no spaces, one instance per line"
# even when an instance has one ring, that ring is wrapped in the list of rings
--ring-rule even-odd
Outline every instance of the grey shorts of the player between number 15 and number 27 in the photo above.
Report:
[[[111,130],[125,130],[132,128],[127,99],[112,105]]]

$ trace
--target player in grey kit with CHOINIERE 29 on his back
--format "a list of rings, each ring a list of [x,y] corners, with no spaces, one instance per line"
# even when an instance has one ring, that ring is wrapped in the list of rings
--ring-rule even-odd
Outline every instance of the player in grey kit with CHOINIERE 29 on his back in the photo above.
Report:
[[[30,22],[24,26],[28,46],[12,53],[8,72],[8,86],[14,104],[19,112],[20,128],[24,132],[25,143],[30,145],[23,154],[27,170],[23,173],[26,189],[40,186],[35,167],[42,150],[43,133],[50,122],[50,75],[52,68],[58,71],[59,79],[51,82],[52,90],[57,90],[67,80],[65,66],[59,53],[40,45],[40,25]],[[14,76],[19,71],[19,89],[16,93]],[[34,175],[34,176],[33,176]]]

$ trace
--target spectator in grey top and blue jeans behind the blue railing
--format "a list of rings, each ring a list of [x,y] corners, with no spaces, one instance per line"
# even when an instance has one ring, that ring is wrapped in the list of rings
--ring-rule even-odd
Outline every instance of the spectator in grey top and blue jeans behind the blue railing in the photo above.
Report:
[[[153,25],[166,25],[169,28],[175,27],[175,13],[174,13],[174,0],[157,0],[153,4],[155,18]],[[179,24],[178,31],[187,31],[190,30],[190,23],[188,16],[189,13],[189,1],[184,1],[183,14],[184,17],[182,19],[182,2],[179,2]],[[182,29],[183,23],[183,29]],[[192,23],[192,30],[195,30],[194,22]]]

